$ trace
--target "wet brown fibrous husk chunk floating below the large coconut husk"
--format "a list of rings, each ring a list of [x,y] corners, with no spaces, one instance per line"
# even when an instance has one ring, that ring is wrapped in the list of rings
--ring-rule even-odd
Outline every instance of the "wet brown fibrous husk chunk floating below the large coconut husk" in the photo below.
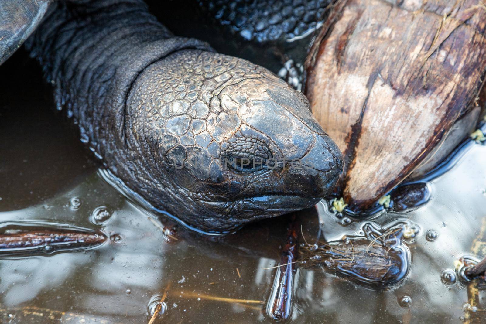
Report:
[[[401,283],[410,266],[410,252],[403,243],[410,224],[400,222],[382,229],[372,222],[362,226],[363,236],[318,242],[300,247],[303,268],[322,265],[359,285],[386,289]]]

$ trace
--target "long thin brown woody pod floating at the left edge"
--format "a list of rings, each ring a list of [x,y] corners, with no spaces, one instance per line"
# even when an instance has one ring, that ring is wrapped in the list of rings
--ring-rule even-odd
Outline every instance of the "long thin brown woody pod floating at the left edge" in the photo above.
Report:
[[[103,243],[106,237],[97,233],[77,231],[35,230],[0,234],[0,256],[29,253],[36,248],[52,253],[59,249],[92,247]],[[46,247],[48,247],[46,249]]]

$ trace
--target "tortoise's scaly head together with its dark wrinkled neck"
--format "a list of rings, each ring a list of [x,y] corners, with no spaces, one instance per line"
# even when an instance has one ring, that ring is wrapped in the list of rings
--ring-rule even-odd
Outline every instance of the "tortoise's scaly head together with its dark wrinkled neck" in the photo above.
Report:
[[[27,48],[58,108],[155,207],[229,230],[312,206],[336,184],[340,151],[268,70],[175,37],[140,0],[58,1],[46,16]]]

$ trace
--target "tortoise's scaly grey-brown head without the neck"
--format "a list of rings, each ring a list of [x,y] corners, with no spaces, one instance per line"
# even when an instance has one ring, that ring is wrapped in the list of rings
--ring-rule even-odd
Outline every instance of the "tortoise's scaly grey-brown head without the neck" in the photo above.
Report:
[[[305,96],[243,59],[175,52],[144,70],[128,105],[146,159],[132,189],[199,228],[310,207],[342,171]]]

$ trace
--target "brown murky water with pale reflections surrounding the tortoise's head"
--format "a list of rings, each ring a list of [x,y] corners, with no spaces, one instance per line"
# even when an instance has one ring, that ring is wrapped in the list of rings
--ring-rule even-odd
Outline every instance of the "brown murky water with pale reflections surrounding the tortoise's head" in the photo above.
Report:
[[[25,53],[0,67],[0,76],[0,222],[72,223],[111,238],[85,252],[0,259],[0,323],[147,323],[149,304],[167,287],[167,309],[156,323],[271,322],[264,310],[277,270],[265,268],[280,259],[288,216],[220,238],[179,227],[173,240],[161,224],[174,223],[159,221],[104,181],[98,162],[50,109],[50,90]],[[374,220],[406,218],[419,226],[408,243],[405,282],[374,291],[320,268],[298,269],[290,322],[460,322],[467,289],[442,273],[470,254],[480,235],[485,157],[485,146],[471,145],[451,171],[430,182],[428,204]],[[101,225],[92,217],[100,206],[108,210]],[[328,240],[360,227],[344,225],[326,205],[319,215],[312,208],[298,217],[308,241],[320,226]]]

